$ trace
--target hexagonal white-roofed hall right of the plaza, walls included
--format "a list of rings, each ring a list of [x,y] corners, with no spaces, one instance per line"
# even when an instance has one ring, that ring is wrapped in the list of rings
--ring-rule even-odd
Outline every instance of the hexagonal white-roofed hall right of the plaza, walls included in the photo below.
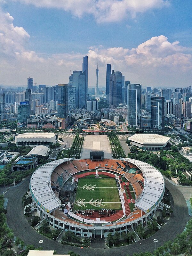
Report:
[[[171,138],[159,134],[137,133],[130,136],[129,140],[132,145],[143,150],[160,150],[167,145]]]

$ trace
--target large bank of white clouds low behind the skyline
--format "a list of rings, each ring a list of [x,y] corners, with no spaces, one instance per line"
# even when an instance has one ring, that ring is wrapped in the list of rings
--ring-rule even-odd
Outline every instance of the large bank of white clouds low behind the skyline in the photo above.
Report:
[[[114,0],[115,2],[116,0]],[[169,42],[164,35],[152,37],[135,48],[92,46],[88,53],[37,54],[30,47],[30,35],[15,27],[13,17],[0,9],[0,84],[25,85],[27,77],[37,84],[68,83],[70,70],[82,70],[83,56],[88,55],[89,86],[105,85],[106,64],[114,65],[126,80],[143,85],[186,86],[192,80],[192,49],[179,41]],[[183,84],[182,84],[183,83]]]

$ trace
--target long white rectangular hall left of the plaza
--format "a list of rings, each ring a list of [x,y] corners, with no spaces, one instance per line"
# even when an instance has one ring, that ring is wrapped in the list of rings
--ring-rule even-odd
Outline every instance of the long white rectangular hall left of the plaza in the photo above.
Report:
[[[18,146],[23,145],[50,145],[55,144],[58,139],[54,133],[22,133],[15,136],[15,143]]]

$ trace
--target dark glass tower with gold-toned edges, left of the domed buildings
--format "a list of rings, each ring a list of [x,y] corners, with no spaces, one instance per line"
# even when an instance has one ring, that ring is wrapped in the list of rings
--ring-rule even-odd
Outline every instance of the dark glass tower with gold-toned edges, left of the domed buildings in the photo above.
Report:
[[[66,119],[68,116],[68,85],[57,85],[57,99],[58,99],[58,126],[65,129],[67,126]]]

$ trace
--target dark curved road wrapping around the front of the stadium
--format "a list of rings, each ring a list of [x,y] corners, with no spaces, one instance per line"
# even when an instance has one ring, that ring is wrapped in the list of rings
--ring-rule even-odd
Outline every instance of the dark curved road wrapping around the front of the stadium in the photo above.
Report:
[[[14,234],[20,237],[25,244],[34,244],[39,247],[38,241],[43,239],[42,247],[44,250],[57,250],[57,253],[68,253],[68,251],[74,251],[80,255],[88,256],[100,256],[100,255],[132,255],[134,252],[153,251],[155,249],[155,243],[153,239],[157,239],[157,247],[164,244],[165,241],[172,240],[178,233],[181,233],[187,221],[190,219],[188,215],[188,208],[183,194],[172,185],[169,181],[165,180],[165,186],[169,190],[172,203],[172,209],[174,211],[173,217],[162,227],[155,235],[141,241],[141,244],[136,243],[128,246],[122,246],[118,248],[108,248],[104,245],[102,248],[78,248],[74,246],[62,245],[56,241],[52,241],[40,234],[38,234],[31,226],[30,222],[26,220],[23,215],[22,196],[28,190],[29,178],[23,181],[19,186],[10,187],[5,194],[5,198],[8,198],[7,203],[7,222],[10,228],[14,230]],[[7,188],[0,188],[1,194],[5,192]],[[102,244],[103,245],[103,244]],[[99,244],[98,244],[99,247]],[[104,249],[105,248],[105,249]]]

